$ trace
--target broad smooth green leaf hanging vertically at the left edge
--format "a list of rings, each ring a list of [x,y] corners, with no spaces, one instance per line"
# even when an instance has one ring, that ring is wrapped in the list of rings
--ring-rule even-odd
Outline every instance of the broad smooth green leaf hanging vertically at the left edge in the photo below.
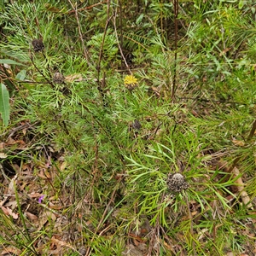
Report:
[[[3,125],[9,123],[9,91],[4,84],[0,84],[0,113],[3,119]]]

